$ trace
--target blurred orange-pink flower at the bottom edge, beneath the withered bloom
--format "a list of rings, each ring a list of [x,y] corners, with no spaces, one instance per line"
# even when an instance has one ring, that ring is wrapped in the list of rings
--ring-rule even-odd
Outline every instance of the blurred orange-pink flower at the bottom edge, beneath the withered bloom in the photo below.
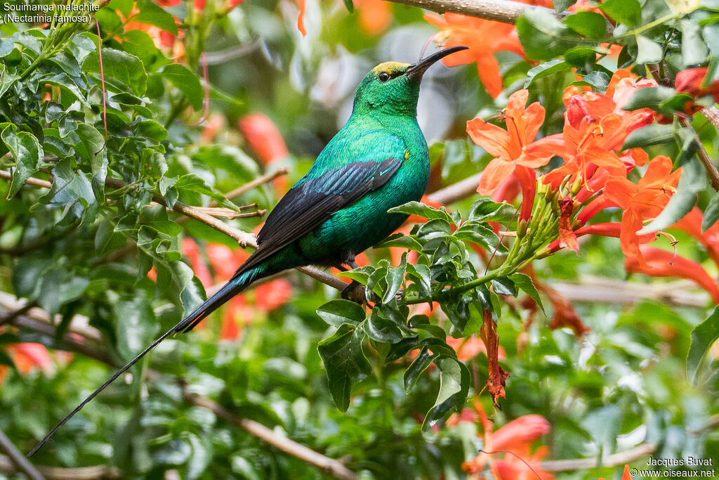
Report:
[[[549,472],[540,470],[541,459],[549,453],[546,446],[531,453],[531,443],[549,433],[551,426],[541,415],[524,415],[512,420],[493,433],[493,424],[487,419],[482,404],[474,404],[484,427],[484,450],[474,460],[462,463],[462,469],[471,478],[483,479],[480,476],[488,462],[495,479],[536,479],[537,475],[544,480],[554,479]],[[504,458],[494,460],[496,453],[505,453]],[[525,463],[526,462],[526,463]]]

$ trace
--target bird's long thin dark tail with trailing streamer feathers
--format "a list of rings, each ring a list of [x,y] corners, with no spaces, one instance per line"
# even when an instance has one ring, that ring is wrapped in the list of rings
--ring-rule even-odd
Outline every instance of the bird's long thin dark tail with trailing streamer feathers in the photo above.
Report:
[[[58,425],[55,425],[55,427],[50,430],[47,435],[45,435],[45,438],[42,438],[37,445],[35,445],[35,448],[32,449],[30,453],[27,454],[27,457],[31,457],[37,452],[37,450],[40,450],[42,448],[42,445],[45,445],[47,443],[47,440],[50,440],[52,435],[55,435],[55,432],[58,431],[60,427],[65,425],[65,422],[70,420],[70,418],[74,417],[77,412],[79,412],[86,404],[91,402],[91,400],[97,395],[106,389],[109,384],[111,384],[113,381],[117,379],[117,377],[121,376],[123,373],[128,371],[132,366],[134,366],[135,363],[140,361],[140,359],[147,355],[147,353],[150,353],[150,350],[157,347],[157,345],[160,345],[162,343],[162,340],[165,340],[165,338],[168,338],[170,335],[173,335],[177,332],[189,332],[194,327],[198,325],[199,322],[201,322],[205,317],[207,317],[209,314],[214,312],[216,309],[222,306],[225,302],[227,302],[229,299],[231,299],[233,296],[239,294],[242,290],[246,289],[249,284],[252,283],[252,281],[255,281],[258,277],[263,276],[262,268],[260,266],[250,268],[248,271],[244,271],[242,273],[236,273],[232,279],[230,279],[219,291],[211,296],[209,299],[207,299],[203,304],[201,304],[199,307],[193,310],[191,314],[188,314],[187,317],[183,318],[183,320],[180,320],[177,325],[170,328],[167,332],[160,335],[160,338],[157,338],[154,342],[150,344],[145,350],[142,350],[135,358],[133,358],[131,361],[129,361],[127,364],[125,364],[122,368],[120,368],[118,371],[116,371],[113,376],[111,376],[104,384],[99,386],[98,389],[93,391],[86,399],[83,400],[81,404],[79,404],[75,409],[68,414],[67,417],[63,418]]]

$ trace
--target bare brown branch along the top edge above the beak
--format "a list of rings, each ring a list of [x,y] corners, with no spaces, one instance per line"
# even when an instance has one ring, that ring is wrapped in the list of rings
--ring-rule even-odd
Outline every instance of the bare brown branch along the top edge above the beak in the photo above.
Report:
[[[514,24],[518,17],[527,9],[544,9],[551,14],[556,14],[553,9],[545,9],[542,6],[521,4],[518,1],[509,0],[391,0],[398,4],[418,6],[423,9],[443,14],[454,12],[470,17],[479,17],[487,20],[495,20]]]

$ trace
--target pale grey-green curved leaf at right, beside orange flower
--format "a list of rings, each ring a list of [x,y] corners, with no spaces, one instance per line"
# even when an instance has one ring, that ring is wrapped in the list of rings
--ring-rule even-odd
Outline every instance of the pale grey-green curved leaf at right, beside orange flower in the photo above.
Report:
[[[677,223],[697,203],[697,193],[704,189],[706,183],[704,170],[699,160],[691,160],[682,168],[682,178],[679,178],[677,193],[669,199],[667,207],[664,207],[664,210],[649,225],[636,232],[637,235],[656,232]]]

